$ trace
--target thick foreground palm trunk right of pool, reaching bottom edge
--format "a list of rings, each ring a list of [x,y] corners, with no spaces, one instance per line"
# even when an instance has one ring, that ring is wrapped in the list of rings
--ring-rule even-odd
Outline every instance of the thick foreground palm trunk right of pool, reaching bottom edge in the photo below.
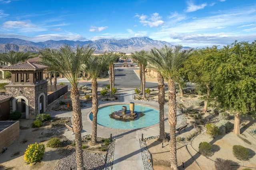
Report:
[[[171,169],[178,170],[177,155],[176,155],[176,133],[175,127],[177,124],[176,115],[176,93],[175,93],[175,82],[172,79],[168,80],[169,89],[169,115],[168,122],[170,125],[170,162]]]

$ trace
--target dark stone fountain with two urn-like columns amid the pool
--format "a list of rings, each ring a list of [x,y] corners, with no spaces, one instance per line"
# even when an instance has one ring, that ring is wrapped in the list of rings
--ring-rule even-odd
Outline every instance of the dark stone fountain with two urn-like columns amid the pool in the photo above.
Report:
[[[110,118],[119,121],[132,121],[137,117],[144,116],[143,113],[134,111],[134,102],[130,102],[129,107],[129,110],[127,110],[126,106],[122,106],[122,110],[113,112],[112,114],[110,114]]]

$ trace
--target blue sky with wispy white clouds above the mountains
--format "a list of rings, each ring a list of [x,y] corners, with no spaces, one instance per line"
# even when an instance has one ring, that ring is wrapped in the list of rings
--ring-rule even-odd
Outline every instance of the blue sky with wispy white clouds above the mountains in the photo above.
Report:
[[[183,46],[256,40],[256,0],[0,0],[0,37],[148,37]]]

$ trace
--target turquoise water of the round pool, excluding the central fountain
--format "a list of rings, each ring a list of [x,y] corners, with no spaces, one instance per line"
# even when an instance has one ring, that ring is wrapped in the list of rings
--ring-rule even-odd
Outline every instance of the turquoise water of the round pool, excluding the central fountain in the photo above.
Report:
[[[130,110],[129,105],[111,105],[99,108],[97,124],[109,128],[136,129],[149,127],[159,123],[159,111],[152,107],[143,105],[134,106],[134,111],[145,114],[144,116],[135,119],[134,121],[123,122],[111,119],[109,115],[115,111],[122,110],[122,106],[126,106],[127,111]],[[90,113],[89,118],[92,121],[92,113]]]

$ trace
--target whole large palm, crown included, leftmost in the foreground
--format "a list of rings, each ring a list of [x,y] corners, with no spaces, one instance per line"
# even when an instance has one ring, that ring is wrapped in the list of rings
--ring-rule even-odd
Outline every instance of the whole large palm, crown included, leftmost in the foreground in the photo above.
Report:
[[[78,170],[84,170],[84,159],[82,151],[82,113],[79,100],[78,83],[80,80],[80,73],[86,67],[86,62],[88,58],[92,55],[95,49],[90,47],[76,47],[76,51],[73,52],[69,45],[64,45],[60,47],[60,50],[54,53],[56,56],[52,57],[52,54],[47,54],[48,50],[43,51],[46,54],[44,57],[47,58],[49,62],[52,62],[56,67],[58,66],[58,71],[62,73],[70,82],[70,98],[72,102],[73,109],[73,129],[75,133],[76,142],[76,166]]]

